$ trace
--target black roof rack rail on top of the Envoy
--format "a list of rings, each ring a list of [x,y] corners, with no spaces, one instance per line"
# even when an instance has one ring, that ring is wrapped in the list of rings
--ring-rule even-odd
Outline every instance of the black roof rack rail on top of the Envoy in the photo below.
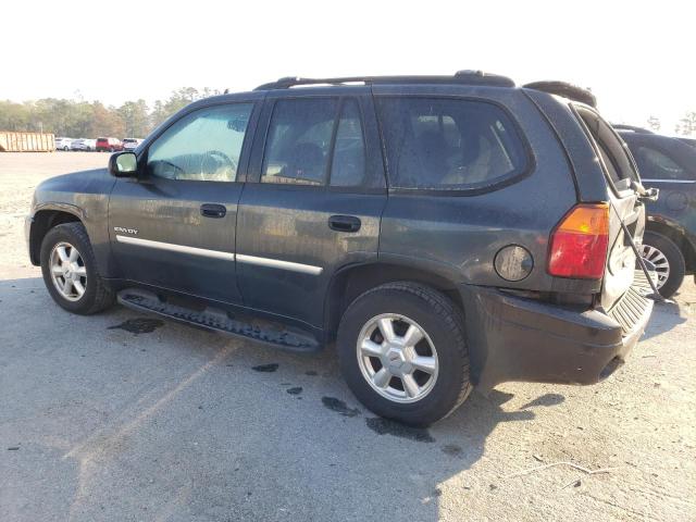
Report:
[[[288,89],[300,85],[346,85],[346,84],[457,84],[487,85],[492,87],[514,87],[507,76],[487,74],[483,71],[458,71],[452,76],[345,76],[338,78],[301,78],[288,76],[263,84],[253,90]]]

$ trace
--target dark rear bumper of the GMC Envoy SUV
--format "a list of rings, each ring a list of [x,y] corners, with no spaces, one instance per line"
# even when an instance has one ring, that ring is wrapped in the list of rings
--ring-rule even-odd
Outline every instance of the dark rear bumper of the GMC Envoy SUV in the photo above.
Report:
[[[605,313],[465,285],[461,295],[473,384],[485,391],[508,381],[599,382],[621,365],[643,335],[652,311],[645,294],[634,284]]]

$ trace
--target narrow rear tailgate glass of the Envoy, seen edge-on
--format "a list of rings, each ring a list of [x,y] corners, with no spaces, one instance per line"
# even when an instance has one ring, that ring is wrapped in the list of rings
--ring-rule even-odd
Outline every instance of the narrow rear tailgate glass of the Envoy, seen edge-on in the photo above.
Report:
[[[592,137],[597,156],[613,188],[619,191],[631,188],[631,182],[637,179],[637,173],[621,138],[596,112],[579,105],[575,105],[575,111]]]

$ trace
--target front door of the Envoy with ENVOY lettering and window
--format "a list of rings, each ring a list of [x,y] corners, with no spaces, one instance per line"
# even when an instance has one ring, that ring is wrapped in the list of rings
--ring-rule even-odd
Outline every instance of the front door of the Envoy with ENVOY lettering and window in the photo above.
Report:
[[[186,113],[140,154],[137,179],[119,179],[109,228],[122,277],[240,301],[235,228],[253,107],[234,102]]]

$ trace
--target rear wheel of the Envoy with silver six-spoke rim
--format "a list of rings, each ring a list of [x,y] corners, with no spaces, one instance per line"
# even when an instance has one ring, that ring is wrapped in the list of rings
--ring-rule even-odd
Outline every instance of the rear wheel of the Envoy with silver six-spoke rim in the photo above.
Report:
[[[380,391],[376,383],[371,384],[371,372],[375,372],[378,382],[381,380],[376,377],[381,369],[387,370],[387,374],[406,372],[412,368],[413,361],[409,359],[413,351],[410,351],[411,356],[405,356],[406,362],[395,353],[398,349],[388,348],[384,353],[385,346],[394,345],[383,336],[382,326],[372,331],[370,325],[375,321],[381,324],[380,318],[391,322],[393,331],[399,335],[398,341],[406,339],[405,332],[410,326],[420,328],[424,334],[413,351],[419,350],[415,352],[419,357],[432,352],[434,357],[430,360],[434,359],[435,372],[413,371],[412,377],[418,381],[414,394],[407,393],[406,381],[400,377],[385,377],[387,385]],[[363,339],[378,344],[382,355],[362,357],[365,352],[358,346]],[[447,417],[464,401],[472,388],[463,314],[447,297],[426,286],[408,282],[388,283],[362,294],[340,320],[336,348],[344,378],[360,402],[377,415],[407,425],[427,426]],[[394,369],[394,365],[400,368]],[[402,397],[397,397],[399,383]]]

